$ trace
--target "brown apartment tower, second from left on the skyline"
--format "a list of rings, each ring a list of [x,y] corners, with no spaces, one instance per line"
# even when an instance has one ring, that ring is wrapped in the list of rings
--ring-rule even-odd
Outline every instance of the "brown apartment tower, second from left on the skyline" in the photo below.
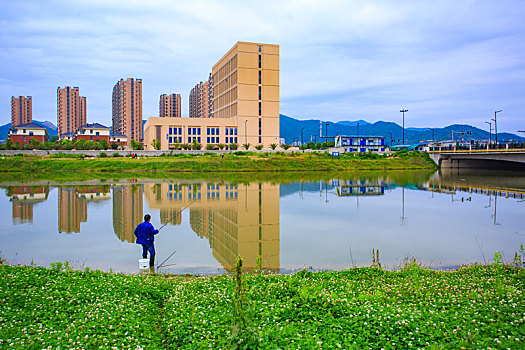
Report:
[[[78,87],[57,88],[58,137],[76,132],[86,124],[86,98],[80,96]]]

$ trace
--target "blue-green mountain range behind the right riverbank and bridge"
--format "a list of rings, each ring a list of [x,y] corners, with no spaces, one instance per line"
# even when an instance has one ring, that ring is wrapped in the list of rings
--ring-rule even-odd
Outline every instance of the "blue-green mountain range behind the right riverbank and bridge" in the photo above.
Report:
[[[353,126],[345,124],[355,123]],[[401,144],[403,140],[403,128],[393,122],[379,121],[375,123],[361,124],[359,121],[359,135],[374,135],[385,136],[387,143],[390,144],[390,136],[394,139],[394,144]],[[336,135],[357,135],[357,122],[325,122],[322,124],[322,140],[326,136],[328,124],[328,136],[334,137]],[[301,141],[301,129],[303,130],[303,142],[319,141],[319,120],[298,120],[288,117],[284,114],[280,115],[280,134],[288,144],[294,141]],[[436,140],[447,141],[452,139],[452,131],[454,131],[454,140],[488,140],[489,133],[485,130],[478,129],[471,125],[454,124],[444,128],[405,128],[405,143],[413,143],[420,141]],[[463,135],[461,132],[463,131]],[[471,131],[472,135],[467,135],[466,132]],[[459,134],[458,134],[459,132]],[[390,135],[391,134],[391,135]],[[494,140],[494,135],[492,135]],[[498,140],[525,140],[525,138],[510,134],[498,133]]]

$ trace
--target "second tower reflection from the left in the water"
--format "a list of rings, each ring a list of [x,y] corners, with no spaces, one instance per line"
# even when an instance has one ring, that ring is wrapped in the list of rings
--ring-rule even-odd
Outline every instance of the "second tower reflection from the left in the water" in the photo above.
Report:
[[[58,232],[80,232],[80,223],[87,221],[87,202],[74,188],[58,189]]]

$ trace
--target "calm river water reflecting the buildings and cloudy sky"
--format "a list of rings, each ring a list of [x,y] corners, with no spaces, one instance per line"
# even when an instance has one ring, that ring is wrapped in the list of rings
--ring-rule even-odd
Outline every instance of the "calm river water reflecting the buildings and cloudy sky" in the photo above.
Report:
[[[525,242],[525,173],[360,173],[235,183],[126,179],[2,181],[0,254],[12,264],[72,262],[137,272],[133,229],[146,213],[161,271],[344,269],[407,255],[434,267],[511,259]],[[297,179],[297,176],[295,176]],[[182,210],[184,207],[189,207]],[[182,210],[182,212],[181,212]]]

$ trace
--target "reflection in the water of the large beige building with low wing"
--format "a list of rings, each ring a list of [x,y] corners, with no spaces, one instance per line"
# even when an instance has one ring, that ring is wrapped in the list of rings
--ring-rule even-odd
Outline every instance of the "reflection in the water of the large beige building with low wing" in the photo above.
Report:
[[[239,255],[246,269],[253,269],[261,257],[263,268],[279,270],[279,185],[165,183],[145,186],[150,208],[180,213],[191,203],[188,208],[191,228],[199,237],[208,239],[213,256],[226,270],[233,269]],[[161,212],[161,221],[171,217],[171,213]],[[176,220],[180,222],[180,215]]]

